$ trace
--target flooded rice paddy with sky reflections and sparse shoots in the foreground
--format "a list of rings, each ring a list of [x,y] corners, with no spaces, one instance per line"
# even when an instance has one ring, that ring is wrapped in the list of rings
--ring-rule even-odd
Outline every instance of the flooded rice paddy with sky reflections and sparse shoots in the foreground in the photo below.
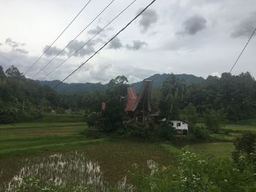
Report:
[[[96,191],[126,182],[134,164],[150,172],[152,164],[170,166],[174,158],[158,144],[128,141],[99,142],[76,150],[39,153],[0,160],[0,188],[14,188],[17,180],[37,178],[56,185],[84,183]],[[128,178],[129,180],[129,178]]]

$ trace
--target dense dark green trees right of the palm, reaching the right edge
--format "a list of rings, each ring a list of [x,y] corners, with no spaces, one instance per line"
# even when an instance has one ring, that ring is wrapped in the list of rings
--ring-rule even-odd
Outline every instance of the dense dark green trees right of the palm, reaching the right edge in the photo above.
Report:
[[[202,114],[208,109],[223,109],[228,120],[252,118],[256,113],[256,81],[249,72],[223,73],[189,85],[184,103],[191,102]]]

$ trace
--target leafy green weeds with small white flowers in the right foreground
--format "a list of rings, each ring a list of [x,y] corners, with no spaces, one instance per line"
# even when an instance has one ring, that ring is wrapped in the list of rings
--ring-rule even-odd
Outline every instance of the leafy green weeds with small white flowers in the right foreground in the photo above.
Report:
[[[132,172],[136,191],[255,191],[255,174],[240,171],[230,159],[202,159],[184,151],[178,167],[151,166],[145,174],[138,166]]]

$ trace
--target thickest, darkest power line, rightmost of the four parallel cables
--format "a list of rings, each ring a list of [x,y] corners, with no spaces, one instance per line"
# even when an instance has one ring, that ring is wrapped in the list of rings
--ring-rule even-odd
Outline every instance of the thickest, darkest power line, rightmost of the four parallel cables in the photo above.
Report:
[[[148,9],[148,7],[150,7],[152,4],[154,4],[154,2],[157,0],[153,0],[151,1],[150,4],[148,4],[147,7],[145,7],[142,11],[140,11],[138,13],[138,15],[135,16],[135,18],[133,18],[126,26],[124,26],[124,28],[121,28],[120,31],[118,31],[118,33],[113,36],[111,39],[108,40],[108,42],[105,43],[105,45],[103,45],[102,47],[99,48],[99,50],[97,50],[93,55],[91,55],[91,57],[89,57],[85,62],[83,62],[83,64],[81,64],[80,66],[78,66],[77,69],[75,69],[72,73],[70,73],[67,77],[64,78],[64,80],[61,80],[61,82],[59,82],[56,86],[53,87],[53,90],[56,89],[57,87],[59,87],[59,85],[61,85],[62,82],[64,82],[65,80],[67,80],[67,78],[69,78],[72,74],[74,74],[76,71],[78,71],[78,69],[80,69],[84,64],[86,64],[91,58],[94,57],[94,55],[96,55],[97,53],[99,53],[100,50],[102,50],[104,47],[106,47],[108,45],[108,43],[110,43],[113,39],[115,39],[118,34],[121,34],[122,31],[124,31],[133,21],[135,21],[143,12],[146,11],[146,9]]]

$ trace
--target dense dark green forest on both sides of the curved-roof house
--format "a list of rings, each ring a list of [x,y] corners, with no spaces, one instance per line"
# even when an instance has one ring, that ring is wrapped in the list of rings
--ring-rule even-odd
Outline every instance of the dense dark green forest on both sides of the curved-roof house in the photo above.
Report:
[[[162,85],[153,87],[153,112],[160,110],[165,117],[181,118],[184,109],[192,106],[200,116],[222,111],[227,120],[252,118],[256,114],[256,82],[249,72],[223,73],[221,77],[209,76],[193,83],[174,74],[165,76]],[[15,66],[5,72],[0,66],[0,123],[37,118],[42,112],[99,112],[102,101],[113,96],[125,97],[127,86],[126,80],[120,84],[113,79],[101,91],[61,94],[48,85],[27,79]]]

